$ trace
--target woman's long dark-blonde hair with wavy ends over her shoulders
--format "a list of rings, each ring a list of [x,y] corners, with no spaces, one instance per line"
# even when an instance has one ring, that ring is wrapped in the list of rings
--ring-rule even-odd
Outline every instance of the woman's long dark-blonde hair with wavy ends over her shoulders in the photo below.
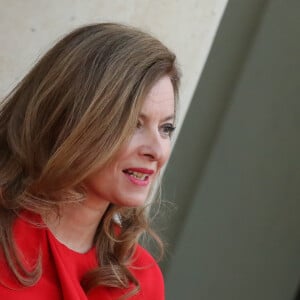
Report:
[[[37,263],[28,271],[17,255],[12,228],[18,214],[59,215],[62,201],[82,201],[83,180],[132,135],[145,95],[165,75],[177,98],[179,72],[167,47],[136,28],[93,24],[61,39],[1,102],[0,246],[19,283],[34,285],[42,270]],[[162,247],[144,207],[109,206],[94,238],[101,268],[85,275],[86,292],[129,283],[138,291],[127,266],[145,232]]]

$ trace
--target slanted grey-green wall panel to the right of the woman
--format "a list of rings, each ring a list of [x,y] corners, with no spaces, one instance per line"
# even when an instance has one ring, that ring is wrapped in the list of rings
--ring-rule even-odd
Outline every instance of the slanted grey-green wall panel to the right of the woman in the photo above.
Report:
[[[299,131],[300,1],[229,0],[166,172],[167,299],[294,299]]]

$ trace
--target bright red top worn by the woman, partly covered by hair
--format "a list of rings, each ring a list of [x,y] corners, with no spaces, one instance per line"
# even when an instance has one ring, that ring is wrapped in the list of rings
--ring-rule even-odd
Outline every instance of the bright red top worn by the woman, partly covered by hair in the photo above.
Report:
[[[39,222],[38,219],[35,221]],[[17,219],[14,237],[28,267],[34,265],[41,249],[43,273],[37,284],[24,288],[16,283],[0,254],[0,299],[112,300],[130,291],[101,286],[85,294],[80,279],[88,270],[97,266],[94,248],[84,254],[77,253],[61,244],[47,228],[38,228],[26,218]],[[164,299],[161,271],[152,256],[141,246],[137,247],[130,270],[141,285],[140,292],[130,299]]]

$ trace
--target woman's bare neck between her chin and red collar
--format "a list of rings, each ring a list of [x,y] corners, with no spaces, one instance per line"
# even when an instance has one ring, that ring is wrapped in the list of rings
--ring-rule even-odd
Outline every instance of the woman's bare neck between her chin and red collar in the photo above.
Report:
[[[64,203],[60,215],[49,214],[43,220],[52,234],[68,248],[85,253],[93,246],[94,236],[108,202],[103,202],[96,209],[88,202]]]

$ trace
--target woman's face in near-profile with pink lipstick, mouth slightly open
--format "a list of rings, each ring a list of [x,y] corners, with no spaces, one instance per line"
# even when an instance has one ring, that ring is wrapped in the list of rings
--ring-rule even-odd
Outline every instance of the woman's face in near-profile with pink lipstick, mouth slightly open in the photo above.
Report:
[[[137,207],[144,204],[152,183],[170,156],[174,129],[174,91],[162,77],[146,96],[136,130],[114,161],[86,181],[87,202]]]

